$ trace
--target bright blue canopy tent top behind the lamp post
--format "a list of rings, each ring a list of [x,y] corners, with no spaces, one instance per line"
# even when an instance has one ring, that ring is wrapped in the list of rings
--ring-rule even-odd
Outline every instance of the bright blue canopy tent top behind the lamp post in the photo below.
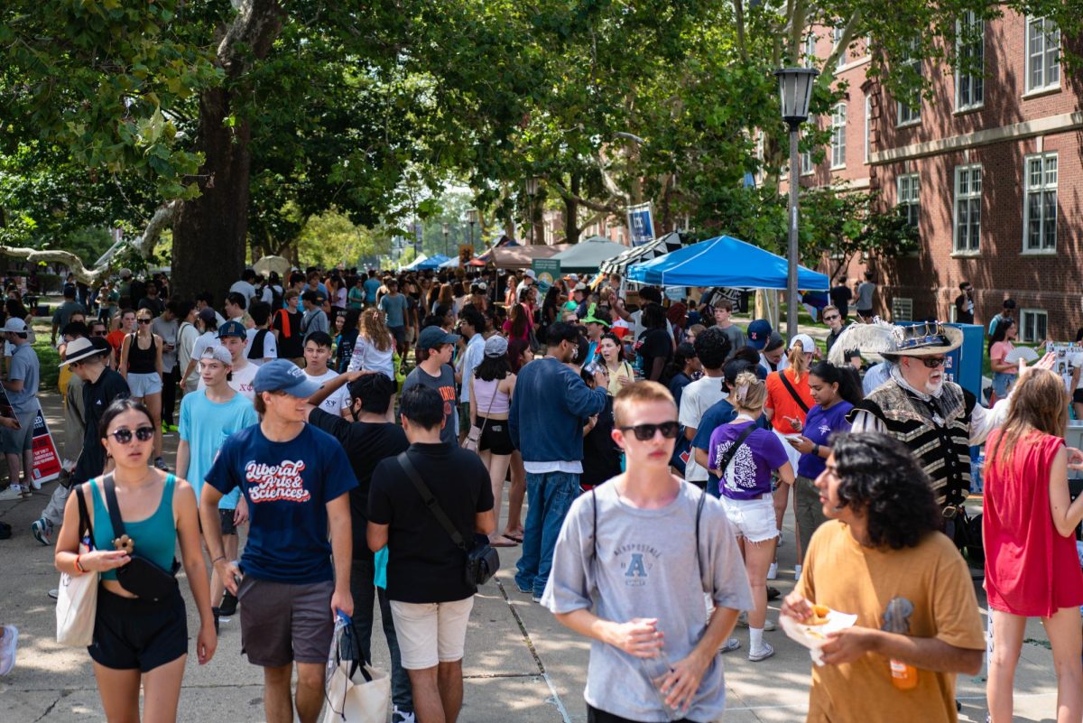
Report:
[[[628,280],[654,286],[720,286],[734,289],[785,289],[786,260],[732,236],[684,246],[628,267]],[[797,288],[826,291],[825,274],[797,267]]]

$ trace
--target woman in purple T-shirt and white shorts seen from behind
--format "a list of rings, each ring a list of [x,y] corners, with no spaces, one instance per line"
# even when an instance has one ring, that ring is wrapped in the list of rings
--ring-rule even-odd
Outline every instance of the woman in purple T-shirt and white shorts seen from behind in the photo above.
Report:
[[[756,425],[767,403],[767,385],[756,374],[742,371],[736,376],[729,403],[736,417],[710,435],[707,469],[718,475],[722,507],[736,529],[748,571],[756,602],[755,609],[748,613],[748,659],[758,662],[774,655],[774,648],[764,642],[767,569],[779,541],[777,509],[785,509],[794,468],[774,433]],[[773,492],[772,474],[779,477],[779,488]]]

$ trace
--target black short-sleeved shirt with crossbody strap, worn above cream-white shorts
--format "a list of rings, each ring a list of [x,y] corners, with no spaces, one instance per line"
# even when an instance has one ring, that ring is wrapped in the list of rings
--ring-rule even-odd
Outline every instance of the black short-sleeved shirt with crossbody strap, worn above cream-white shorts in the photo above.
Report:
[[[488,472],[474,452],[453,444],[414,444],[409,459],[421,481],[469,545],[474,515],[493,509]],[[454,474],[449,474],[454,470]],[[394,459],[376,465],[368,518],[388,530],[388,597],[402,603],[449,603],[474,590],[462,579],[466,553],[426,508]]]

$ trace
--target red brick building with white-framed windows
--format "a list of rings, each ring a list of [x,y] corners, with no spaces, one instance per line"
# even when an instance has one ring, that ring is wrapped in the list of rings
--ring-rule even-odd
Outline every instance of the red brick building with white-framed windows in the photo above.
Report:
[[[968,280],[978,323],[1010,295],[1023,341],[1074,339],[1083,326],[1083,78],[1062,67],[1059,31],[1043,18],[1006,10],[977,29],[981,41],[961,52],[981,58],[984,73],[915,61],[934,92],[910,103],[866,78],[865,45],[851,44],[837,70],[846,96],[820,119],[832,143],[822,162],[801,159],[801,184],[878,190],[917,225],[916,254],[872,262],[882,315],[952,319]],[[833,42],[831,28],[818,28],[807,53],[825,58]],[[851,286],[863,271],[851,264]]]

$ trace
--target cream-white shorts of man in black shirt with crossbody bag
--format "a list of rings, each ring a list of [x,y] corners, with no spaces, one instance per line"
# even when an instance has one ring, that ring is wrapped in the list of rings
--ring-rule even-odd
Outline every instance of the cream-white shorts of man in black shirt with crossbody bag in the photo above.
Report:
[[[473,597],[451,603],[400,603],[391,601],[399,652],[406,670],[435,668],[438,662],[462,659],[467,622]]]

